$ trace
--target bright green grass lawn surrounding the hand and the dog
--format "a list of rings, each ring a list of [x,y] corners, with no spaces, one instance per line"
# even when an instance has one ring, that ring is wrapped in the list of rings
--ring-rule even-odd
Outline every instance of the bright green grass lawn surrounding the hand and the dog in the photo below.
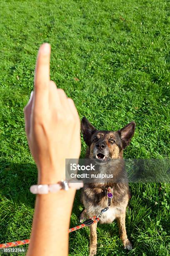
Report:
[[[170,157],[170,1],[4,0],[0,8],[0,242],[29,238],[36,166],[23,108],[35,59],[52,46],[51,79],[97,128],[135,120],[126,158]],[[75,79],[78,78],[79,80]],[[82,153],[85,143],[82,141]],[[130,184],[122,249],[116,222],[98,225],[97,255],[168,256],[170,184]],[[82,210],[77,192],[70,226]],[[70,256],[88,255],[89,228],[70,234]],[[0,254],[1,255],[1,254]]]

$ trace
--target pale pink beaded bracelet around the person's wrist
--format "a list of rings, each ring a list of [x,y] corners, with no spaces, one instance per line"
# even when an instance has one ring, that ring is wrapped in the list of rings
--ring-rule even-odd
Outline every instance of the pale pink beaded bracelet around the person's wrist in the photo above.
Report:
[[[67,182],[65,180],[60,181],[59,183],[56,184],[40,184],[40,185],[32,185],[30,187],[30,192],[32,194],[48,194],[50,193],[55,193],[61,189],[63,190],[68,190],[69,188],[75,188],[75,189],[80,189],[83,187],[83,182]]]

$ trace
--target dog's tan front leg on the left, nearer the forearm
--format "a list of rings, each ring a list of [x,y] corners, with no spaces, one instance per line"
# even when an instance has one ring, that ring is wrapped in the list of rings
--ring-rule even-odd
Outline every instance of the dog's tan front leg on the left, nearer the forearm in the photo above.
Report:
[[[90,226],[90,256],[97,253],[97,223]]]

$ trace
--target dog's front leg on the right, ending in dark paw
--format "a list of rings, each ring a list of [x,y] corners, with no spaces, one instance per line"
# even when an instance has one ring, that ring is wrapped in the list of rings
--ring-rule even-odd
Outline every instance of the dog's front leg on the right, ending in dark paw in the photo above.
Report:
[[[126,233],[126,227],[125,227],[125,217],[126,214],[122,213],[118,218],[117,218],[117,224],[119,226],[119,234],[120,234],[120,239],[122,240],[123,243],[123,248],[132,250],[132,243],[129,241],[127,233]]]

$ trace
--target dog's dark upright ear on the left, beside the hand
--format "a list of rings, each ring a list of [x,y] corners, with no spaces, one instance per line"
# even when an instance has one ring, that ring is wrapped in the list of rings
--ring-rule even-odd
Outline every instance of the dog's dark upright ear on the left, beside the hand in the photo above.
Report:
[[[90,138],[92,136],[92,133],[96,131],[96,128],[92,126],[92,124],[87,120],[87,118],[85,118],[85,116],[82,118],[81,121],[81,131],[85,143],[90,146]]]

